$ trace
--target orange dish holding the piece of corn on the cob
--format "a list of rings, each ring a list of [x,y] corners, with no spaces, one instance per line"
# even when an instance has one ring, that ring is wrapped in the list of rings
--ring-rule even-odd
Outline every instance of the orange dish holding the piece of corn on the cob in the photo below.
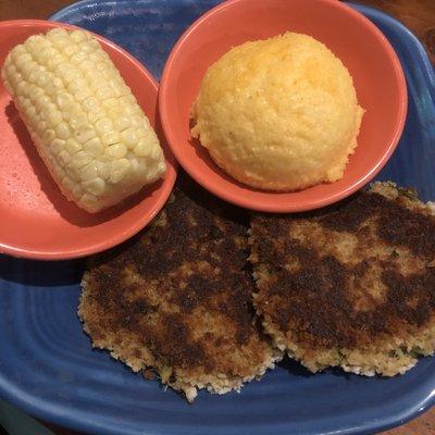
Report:
[[[15,45],[30,35],[59,26],[76,28],[38,20],[0,23],[0,65]],[[126,51],[98,35],[94,36],[120,70],[159,134],[156,80]],[[15,257],[59,260],[111,248],[154,217],[175,182],[175,161],[163,135],[159,134],[167,164],[164,179],[145,187],[117,207],[89,214],[61,194],[1,83],[0,132],[0,252]]]

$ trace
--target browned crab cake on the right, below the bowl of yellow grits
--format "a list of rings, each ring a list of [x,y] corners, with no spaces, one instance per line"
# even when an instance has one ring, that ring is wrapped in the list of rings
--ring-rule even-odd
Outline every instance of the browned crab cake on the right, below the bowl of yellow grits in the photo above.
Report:
[[[312,372],[405,373],[435,348],[435,216],[377,183],[327,209],[251,221],[254,304]]]

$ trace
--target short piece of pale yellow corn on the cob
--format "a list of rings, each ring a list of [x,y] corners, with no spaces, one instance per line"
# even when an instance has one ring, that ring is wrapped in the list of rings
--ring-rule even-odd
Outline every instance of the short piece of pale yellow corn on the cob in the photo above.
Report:
[[[78,207],[98,212],[164,173],[147,116],[88,33],[30,36],[1,76],[52,177]]]

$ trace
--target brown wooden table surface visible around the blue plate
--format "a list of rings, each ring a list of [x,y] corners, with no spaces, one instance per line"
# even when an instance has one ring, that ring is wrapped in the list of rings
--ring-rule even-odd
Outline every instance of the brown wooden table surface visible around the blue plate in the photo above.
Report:
[[[435,64],[435,0],[353,0],[387,12],[400,20],[422,40]],[[46,18],[71,4],[71,0],[0,0],[0,21],[12,18]],[[78,435],[71,431],[48,425],[59,435]],[[435,409],[419,419],[385,432],[383,435],[435,434]]]

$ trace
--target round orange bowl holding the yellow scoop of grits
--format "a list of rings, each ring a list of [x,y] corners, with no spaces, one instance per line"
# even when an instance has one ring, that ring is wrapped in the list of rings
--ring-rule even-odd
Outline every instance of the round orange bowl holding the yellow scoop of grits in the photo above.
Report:
[[[232,47],[287,30],[325,44],[353,77],[365,109],[358,147],[344,177],[293,192],[237,183],[191,138],[189,116],[207,69]],[[297,212],[335,202],[371,181],[391,156],[403,129],[407,87],[385,36],[362,14],[336,0],[232,0],[212,9],[179,38],[165,64],[159,105],[166,139],[182,166],[216,196],[252,210]]]

